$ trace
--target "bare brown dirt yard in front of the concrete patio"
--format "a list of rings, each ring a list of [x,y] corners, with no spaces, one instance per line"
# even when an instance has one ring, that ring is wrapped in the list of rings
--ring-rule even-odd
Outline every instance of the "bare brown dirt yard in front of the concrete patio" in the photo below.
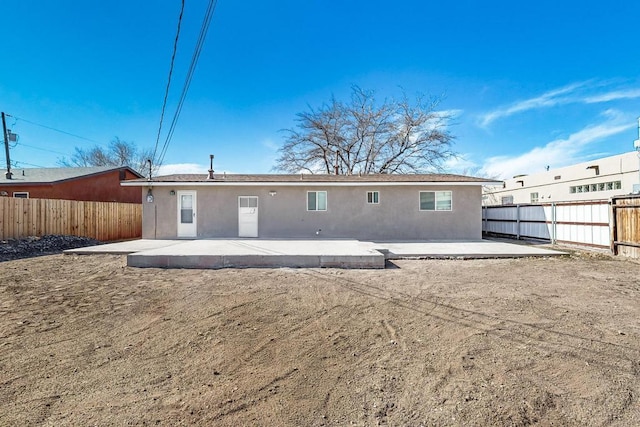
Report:
[[[0,263],[0,425],[640,425],[640,263]]]

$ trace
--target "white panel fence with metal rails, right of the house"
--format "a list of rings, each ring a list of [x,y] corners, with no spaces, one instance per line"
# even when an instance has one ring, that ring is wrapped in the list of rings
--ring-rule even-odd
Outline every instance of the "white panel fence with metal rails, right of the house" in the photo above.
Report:
[[[516,239],[609,248],[610,210],[608,200],[484,206],[482,231]]]

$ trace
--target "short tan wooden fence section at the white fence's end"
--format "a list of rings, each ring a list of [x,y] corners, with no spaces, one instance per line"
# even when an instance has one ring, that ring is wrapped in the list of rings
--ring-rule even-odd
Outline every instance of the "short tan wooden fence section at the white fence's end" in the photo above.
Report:
[[[611,252],[640,258],[640,195],[611,199]]]

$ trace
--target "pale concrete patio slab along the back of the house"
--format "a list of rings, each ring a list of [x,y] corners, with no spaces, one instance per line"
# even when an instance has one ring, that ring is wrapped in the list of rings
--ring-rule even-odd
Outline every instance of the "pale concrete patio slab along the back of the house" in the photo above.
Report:
[[[385,260],[557,256],[563,252],[502,241],[365,242],[358,240],[136,240],[65,251],[126,254],[131,267],[384,268]]]

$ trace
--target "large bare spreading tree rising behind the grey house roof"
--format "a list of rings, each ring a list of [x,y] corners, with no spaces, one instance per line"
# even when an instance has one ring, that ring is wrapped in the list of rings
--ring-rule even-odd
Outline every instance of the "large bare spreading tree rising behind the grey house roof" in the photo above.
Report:
[[[418,96],[377,104],[373,91],[357,86],[343,103],[332,98],[297,115],[295,129],[279,149],[275,170],[298,173],[384,174],[442,170],[455,154],[447,129],[451,118],[437,111],[437,98]]]

